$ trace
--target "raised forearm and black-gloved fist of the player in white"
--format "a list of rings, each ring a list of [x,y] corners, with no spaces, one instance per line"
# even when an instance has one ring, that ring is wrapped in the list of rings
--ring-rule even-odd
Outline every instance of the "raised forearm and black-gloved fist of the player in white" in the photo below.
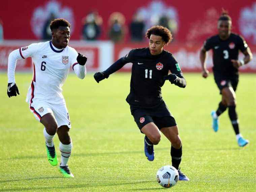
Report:
[[[76,61],[72,68],[75,71],[75,74],[78,78],[84,79],[86,76],[86,66],[85,63],[87,61],[87,57],[84,56],[81,53],[78,53],[78,56],[76,57]],[[78,64],[78,65],[77,65]]]

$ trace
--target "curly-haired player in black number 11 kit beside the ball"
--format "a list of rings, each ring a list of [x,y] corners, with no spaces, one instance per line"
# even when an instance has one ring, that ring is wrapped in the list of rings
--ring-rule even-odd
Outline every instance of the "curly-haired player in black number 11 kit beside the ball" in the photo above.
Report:
[[[172,166],[178,170],[179,180],[189,181],[179,168],[182,143],[178,126],[161,96],[161,87],[166,80],[182,88],[186,86],[179,63],[163,49],[172,40],[171,36],[167,28],[153,26],[146,33],[149,47],[131,50],[105,71],[95,73],[94,78],[99,83],[126,63],[132,63],[130,93],[126,101],[134,121],[145,134],[145,155],[149,161],[154,160],[154,145],[159,143],[161,131],[171,142]],[[169,71],[171,74],[168,75]]]

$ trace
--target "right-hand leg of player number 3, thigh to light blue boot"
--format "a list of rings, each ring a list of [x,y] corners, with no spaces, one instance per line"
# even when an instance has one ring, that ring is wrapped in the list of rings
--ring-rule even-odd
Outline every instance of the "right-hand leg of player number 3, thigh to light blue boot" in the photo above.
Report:
[[[237,85],[237,84],[236,84]],[[236,89],[236,86],[234,86],[234,89]],[[240,147],[246,146],[249,141],[244,139],[243,136],[240,134],[239,131],[239,121],[236,113],[236,95],[233,87],[226,87],[221,90],[221,93],[223,97],[225,98],[228,106],[228,115],[229,119],[231,121],[231,124],[233,126],[237,143]]]

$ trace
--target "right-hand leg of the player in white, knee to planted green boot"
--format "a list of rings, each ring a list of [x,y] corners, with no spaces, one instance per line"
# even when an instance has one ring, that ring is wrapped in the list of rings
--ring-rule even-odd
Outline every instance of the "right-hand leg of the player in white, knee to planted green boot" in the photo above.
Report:
[[[60,139],[60,153],[61,163],[59,170],[64,177],[72,178],[74,175],[70,172],[68,167],[68,160],[72,151],[72,141],[69,135],[69,127],[67,125],[60,126],[57,130]]]

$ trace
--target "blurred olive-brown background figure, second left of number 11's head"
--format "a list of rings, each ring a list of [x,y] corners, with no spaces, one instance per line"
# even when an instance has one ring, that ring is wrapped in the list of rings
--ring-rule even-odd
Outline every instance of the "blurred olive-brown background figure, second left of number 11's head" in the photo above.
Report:
[[[114,42],[120,42],[124,39],[126,32],[125,17],[120,12],[111,13],[108,19],[109,31],[108,36]]]

